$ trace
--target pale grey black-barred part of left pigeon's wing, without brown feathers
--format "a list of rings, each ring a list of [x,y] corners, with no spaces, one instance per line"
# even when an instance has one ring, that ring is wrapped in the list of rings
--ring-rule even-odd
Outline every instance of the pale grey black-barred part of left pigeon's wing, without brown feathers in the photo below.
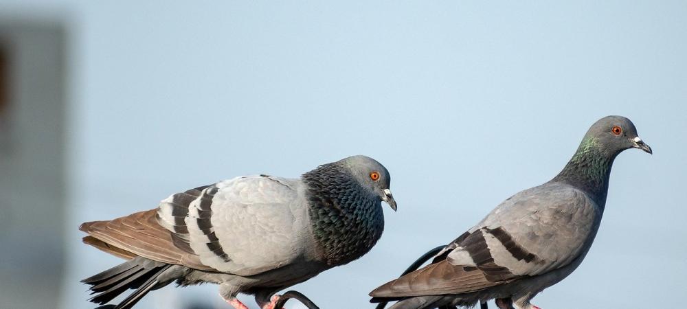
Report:
[[[302,256],[308,231],[302,183],[243,176],[201,190],[192,201],[170,196],[158,216],[177,247],[223,273],[256,275]]]

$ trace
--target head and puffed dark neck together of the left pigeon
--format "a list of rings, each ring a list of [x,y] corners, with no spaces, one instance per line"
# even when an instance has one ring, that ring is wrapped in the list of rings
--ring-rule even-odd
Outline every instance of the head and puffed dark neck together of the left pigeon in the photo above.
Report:
[[[319,165],[302,177],[315,242],[330,266],[368,253],[384,231],[382,201],[396,210],[391,177],[379,162],[354,156]]]

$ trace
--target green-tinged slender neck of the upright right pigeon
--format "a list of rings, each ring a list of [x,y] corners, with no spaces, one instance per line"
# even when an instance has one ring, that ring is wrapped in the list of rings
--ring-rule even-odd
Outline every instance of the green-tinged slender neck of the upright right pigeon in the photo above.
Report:
[[[552,181],[573,185],[589,193],[597,205],[604,207],[616,155],[603,151],[596,138],[585,137],[575,155]]]

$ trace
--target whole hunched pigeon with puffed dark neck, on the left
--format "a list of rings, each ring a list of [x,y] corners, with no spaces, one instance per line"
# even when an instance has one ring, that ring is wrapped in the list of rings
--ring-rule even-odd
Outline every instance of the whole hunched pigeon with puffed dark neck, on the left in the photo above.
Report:
[[[131,308],[172,282],[211,282],[236,309],[247,308],[238,293],[273,309],[274,293],[372,249],[384,229],[381,202],[396,210],[389,184],[383,165],[355,156],[300,179],[236,177],[174,194],[157,209],[86,222],[85,243],[128,261],[82,282],[98,304],[136,289],[102,308]]]

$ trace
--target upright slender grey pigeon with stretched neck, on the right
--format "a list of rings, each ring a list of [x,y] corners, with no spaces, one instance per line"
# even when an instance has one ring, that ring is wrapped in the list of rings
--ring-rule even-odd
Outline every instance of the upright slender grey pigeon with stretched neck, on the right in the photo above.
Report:
[[[651,154],[629,119],[598,120],[554,179],[508,198],[431,264],[373,290],[372,302],[418,309],[496,299],[502,309],[538,308],[530,299],[570,275],[592,246],[613,159],[629,148]]]

